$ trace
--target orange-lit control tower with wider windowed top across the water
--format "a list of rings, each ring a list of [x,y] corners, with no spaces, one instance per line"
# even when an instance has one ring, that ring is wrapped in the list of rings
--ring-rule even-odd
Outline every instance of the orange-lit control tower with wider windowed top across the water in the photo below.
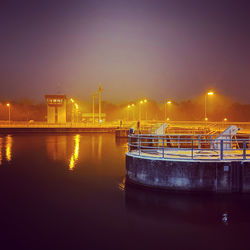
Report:
[[[66,95],[45,95],[47,122],[66,123]]]

